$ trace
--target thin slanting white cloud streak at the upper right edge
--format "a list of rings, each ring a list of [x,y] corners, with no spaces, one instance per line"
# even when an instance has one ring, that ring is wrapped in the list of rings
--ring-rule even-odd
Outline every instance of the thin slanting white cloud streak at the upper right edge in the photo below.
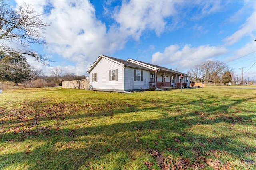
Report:
[[[244,24],[240,26],[240,30],[237,30],[234,34],[224,39],[226,45],[232,45],[242,39],[244,36],[252,34],[256,30],[256,12],[254,11],[249,16]]]

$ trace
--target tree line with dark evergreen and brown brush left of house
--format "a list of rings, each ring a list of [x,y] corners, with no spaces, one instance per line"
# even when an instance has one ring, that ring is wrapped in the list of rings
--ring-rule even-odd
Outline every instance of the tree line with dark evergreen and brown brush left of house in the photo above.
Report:
[[[29,65],[24,55],[14,53],[0,53],[0,68],[0,80],[11,81],[15,86],[18,86],[18,83],[24,87],[61,86],[62,81],[86,78],[85,75],[64,73],[61,67],[53,67],[51,75],[45,76],[41,69]]]

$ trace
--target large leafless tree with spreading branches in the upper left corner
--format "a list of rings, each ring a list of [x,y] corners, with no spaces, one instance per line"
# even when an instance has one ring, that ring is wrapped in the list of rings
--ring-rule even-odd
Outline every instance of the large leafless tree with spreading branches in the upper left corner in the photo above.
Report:
[[[0,51],[4,54],[30,55],[47,65],[51,61],[49,58],[27,49],[31,43],[46,44],[44,29],[50,24],[44,23],[42,15],[34,11],[31,5],[23,3],[12,9],[7,2],[0,0]],[[17,45],[20,47],[14,47]]]

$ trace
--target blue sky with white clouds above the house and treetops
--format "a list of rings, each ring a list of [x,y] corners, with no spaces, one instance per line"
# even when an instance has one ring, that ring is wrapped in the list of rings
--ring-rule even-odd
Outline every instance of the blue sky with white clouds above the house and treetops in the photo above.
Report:
[[[22,3],[23,0],[16,0]],[[52,67],[84,75],[100,54],[187,73],[220,60],[238,78],[256,79],[256,1],[26,0],[44,21],[49,45],[32,48]],[[51,67],[28,58],[50,74]]]

